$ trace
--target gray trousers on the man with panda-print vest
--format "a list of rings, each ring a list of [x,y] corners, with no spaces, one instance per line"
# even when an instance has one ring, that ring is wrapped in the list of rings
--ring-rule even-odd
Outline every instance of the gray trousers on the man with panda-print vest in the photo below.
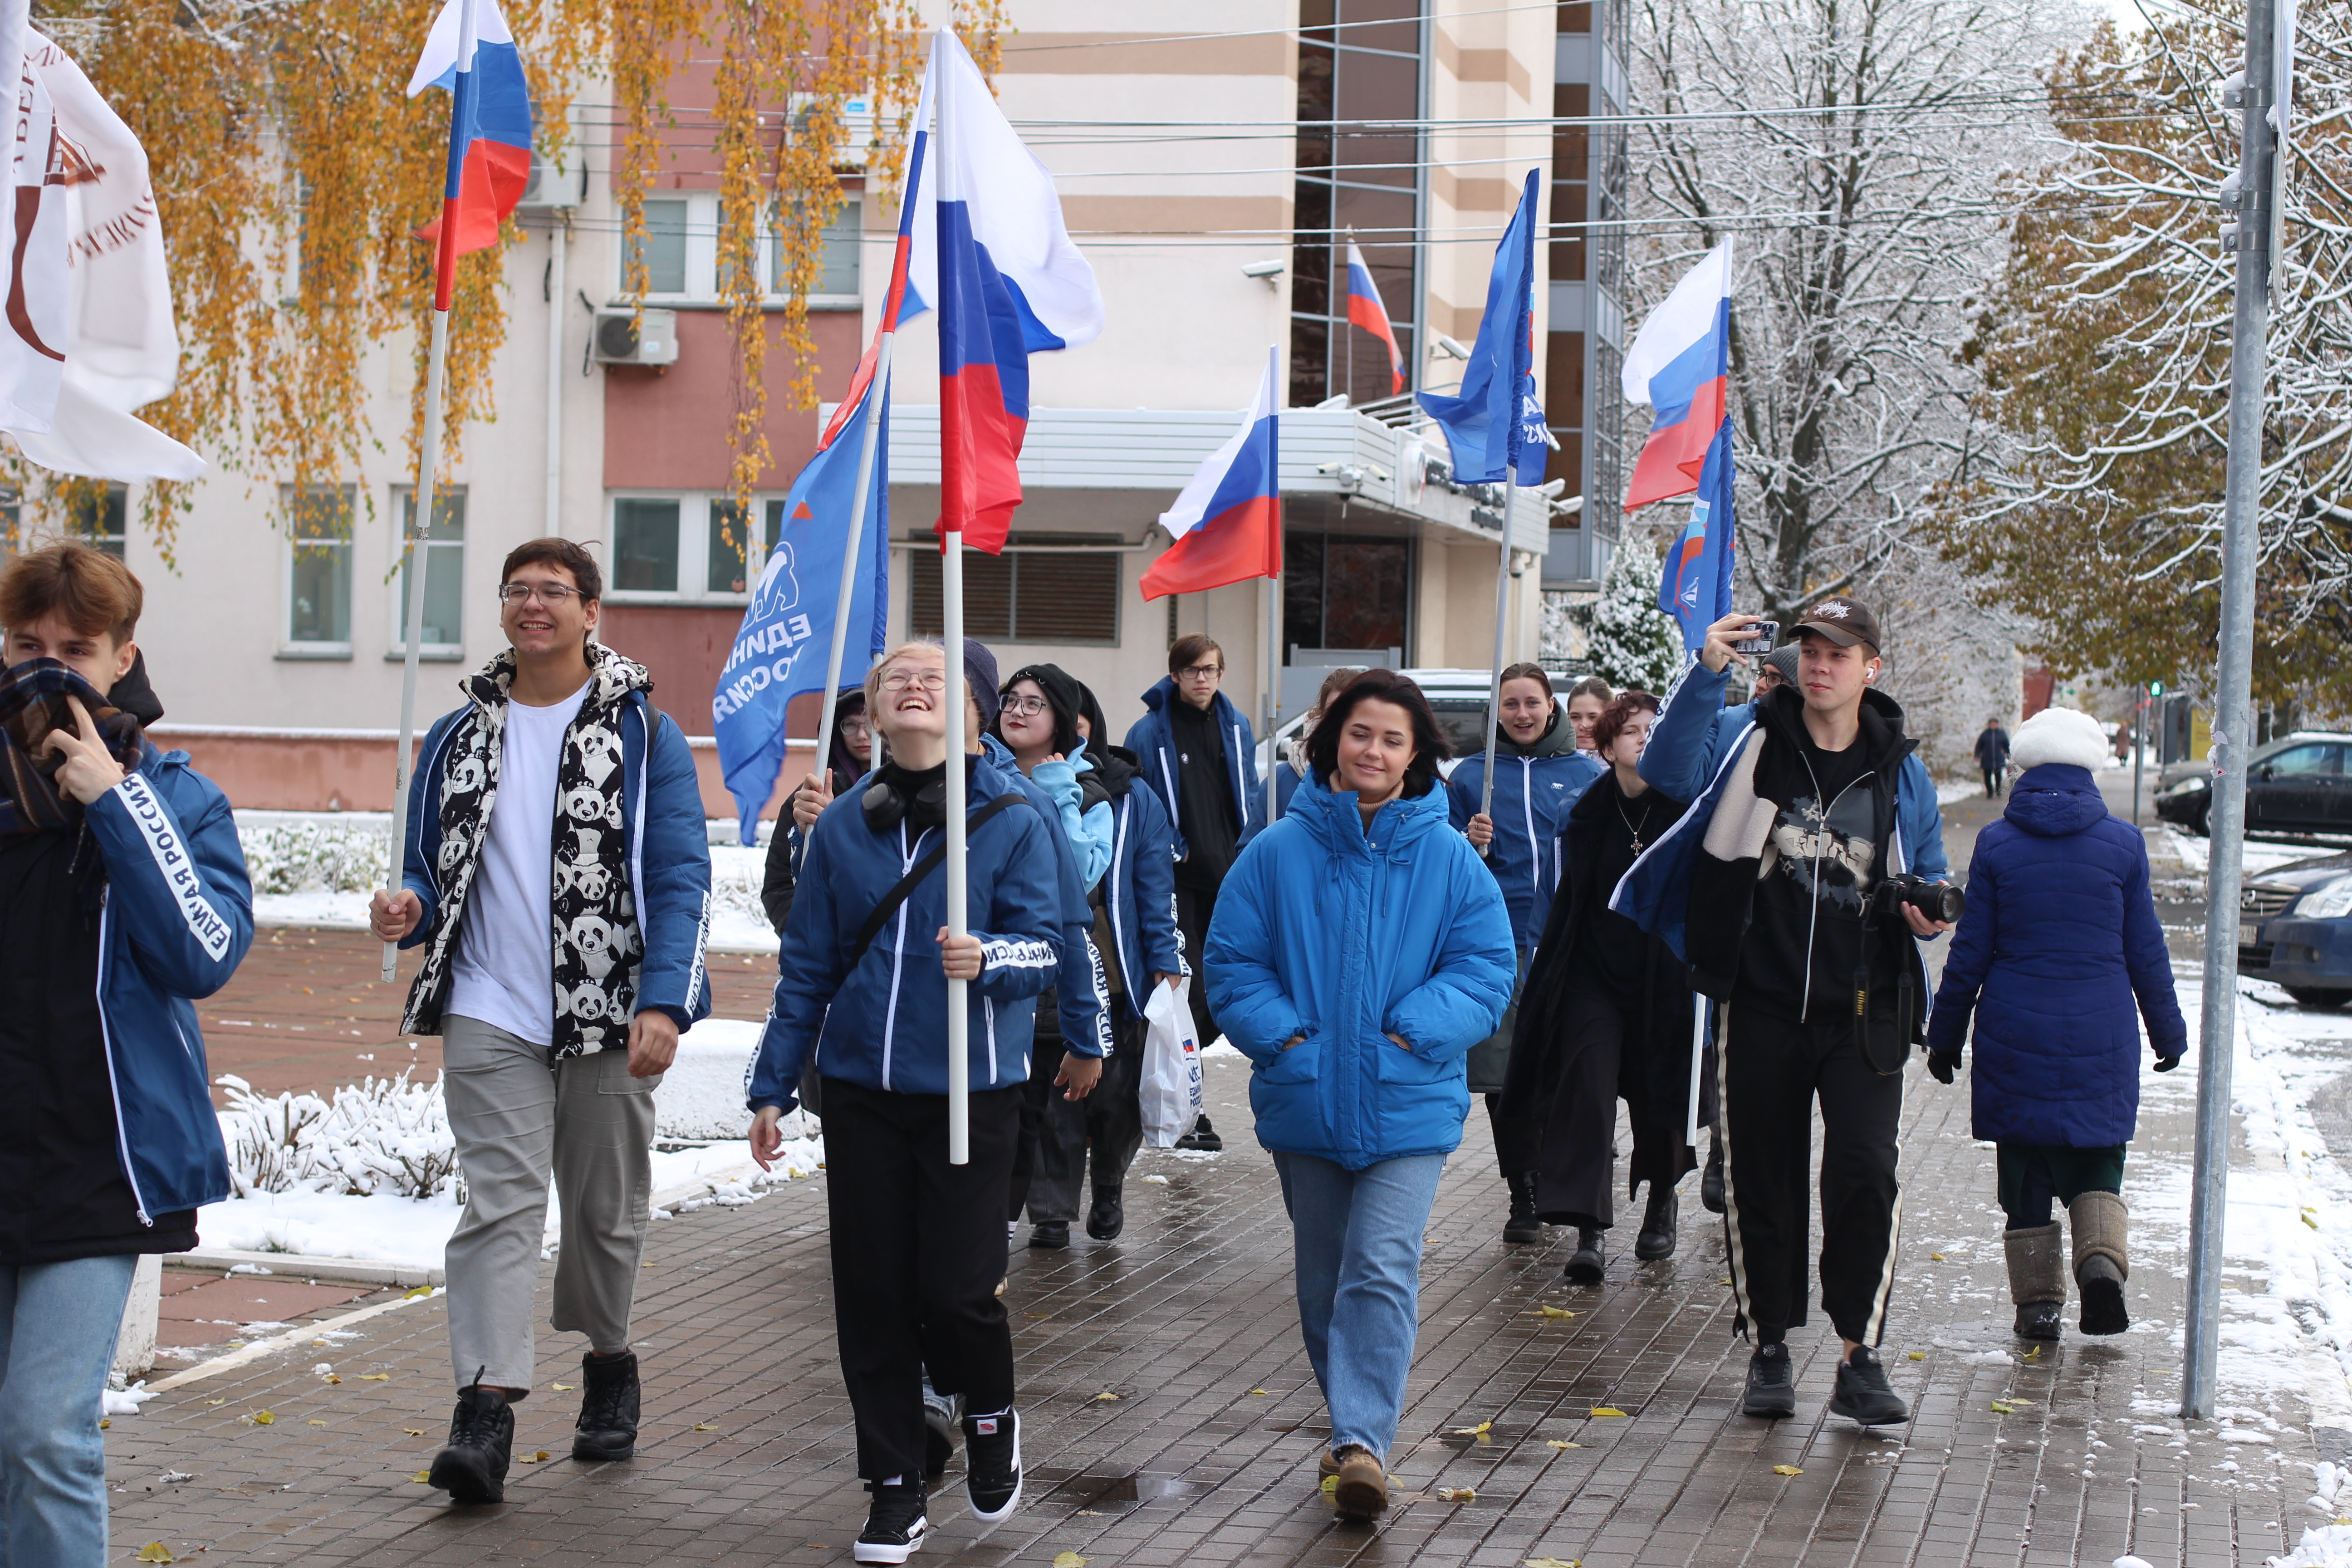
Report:
[[[661,1077],[628,1077],[628,1051],[590,1051],[550,1072],[546,1046],[480,1018],[445,1020],[442,1067],[466,1168],[466,1218],[445,1262],[459,1387],[532,1387],[550,1171],[562,1204],[553,1324],[586,1333],[590,1349],[626,1349]]]

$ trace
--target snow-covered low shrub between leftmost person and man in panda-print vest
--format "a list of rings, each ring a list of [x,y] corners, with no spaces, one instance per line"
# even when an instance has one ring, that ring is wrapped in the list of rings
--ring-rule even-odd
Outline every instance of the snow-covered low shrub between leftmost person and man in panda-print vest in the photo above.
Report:
[[[447,1192],[466,1201],[440,1074],[433,1084],[412,1084],[407,1070],[369,1077],[343,1084],[334,1100],[261,1095],[235,1074],[214,1081],[228,1091],[221,1138],[238,1197],[310,1190],[435,1199]]]

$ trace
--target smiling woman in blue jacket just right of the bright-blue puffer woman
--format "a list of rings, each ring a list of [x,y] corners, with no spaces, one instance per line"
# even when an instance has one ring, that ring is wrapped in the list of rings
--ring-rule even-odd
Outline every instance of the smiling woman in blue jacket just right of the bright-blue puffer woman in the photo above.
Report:
[[[1576,724],[1552,701],[1552,677],[1543,665],[1510,665],[1501,686],[1494,809],[1491,813],[1479,809],[1486,795],[1486,755],[1475,752],[1463,757],[1446,780],[1446,811],[1454,827],[1486,858],[1486,870],[1503,889],[1510,929],[1519,933],[1524,983],[1526,959],[1543,940],[1543,919],[1552,910],[1552,889],[1559,886],[1559,825],[1585,785],[1602,776],[1602,764],[1590,752],[1576,750]],[[1543,1241],[1543,1220],[1536,1218],[1536,1150],[1515,1143],[1501,1114],[1503,1072],[1517,1016],[1515,990],[1501,1027],[1470,1048],[1468,1077],[1470,1093],[1486,1100],[1496,1164],[1510,1192],[1503,1239]]]

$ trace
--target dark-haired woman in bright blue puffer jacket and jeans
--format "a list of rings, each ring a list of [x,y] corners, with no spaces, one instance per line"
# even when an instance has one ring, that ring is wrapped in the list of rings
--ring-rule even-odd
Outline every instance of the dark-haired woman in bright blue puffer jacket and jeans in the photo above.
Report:
[[[1367,670],[1308,736],[1289,813],[1235,860],[1202,966],[1256,1072],[1291,1215],[1298,1324],[1331,1410],[1341,1514],[1388,1507],[1421,1232],[1463,1138],[1463,1058],[1510,1001],[1510,912],[1446,823],[1421,686]]]

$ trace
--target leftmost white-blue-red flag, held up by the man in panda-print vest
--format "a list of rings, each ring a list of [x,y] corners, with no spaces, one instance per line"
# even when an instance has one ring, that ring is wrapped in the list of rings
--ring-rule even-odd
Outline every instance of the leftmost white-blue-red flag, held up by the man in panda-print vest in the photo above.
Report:
[[[499,0],[447,0],[433,19],[426,52],[409,78],[409,96],[426,87],[449,89],[449,174],[442,181],[442,216],[416,230],[440,247],[435,308],[449,308],[452,266],[466,252],[499,242],[499,223],[532,183],[532,89],[522,80],[522,54],[499,14]]]

